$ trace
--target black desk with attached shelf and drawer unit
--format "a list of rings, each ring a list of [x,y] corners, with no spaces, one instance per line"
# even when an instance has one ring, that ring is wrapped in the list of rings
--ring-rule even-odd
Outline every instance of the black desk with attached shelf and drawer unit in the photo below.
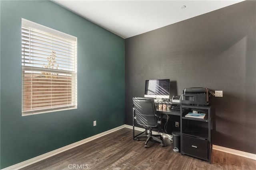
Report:
[[[155,103],[158,104],[172,104],[179,106],[180,110],[177,109],[168,109],[168,108],[159,108],[156,107],[156,111],[162,115],[166,115],[166,119],[170,121],[166,121],[164,124],[164,133],[171,134],[167,132],[166,129],[170,131],[180,131],[180,153],[194,156],[196,158],[200,158],[203,160],[207,160],[211,163],[211,153],[212,153],[212,141],[211,141],[211,129],[212,129],[212,115],[213,110],[212,106],[193,106],[193,105],[182,105],[180,103],[172,103],[172,102],[163,102],[157,101]],[[186,117],[188,113],[192,113],[193,111],[200,111],[205,113],[204,119],[199,119],[195,117]],[[179,122],[180,127],[175,127],[175,122]],[[168,125],[168,128],[166,125]],[[142,132],[145,133],[146,131]],[[139,133],[138,135],[141,135]],[[134,110],[133,110],[133,140],[134,136]]]

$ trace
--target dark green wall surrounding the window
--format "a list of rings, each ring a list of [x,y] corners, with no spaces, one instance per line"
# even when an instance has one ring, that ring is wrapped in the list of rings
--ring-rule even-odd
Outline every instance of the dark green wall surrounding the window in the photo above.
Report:
[[[124,125],[123,38],[51,1],[1,0],[0,14],[1,169]],[[78,38],[77,109],[22,117],[21,18]]]

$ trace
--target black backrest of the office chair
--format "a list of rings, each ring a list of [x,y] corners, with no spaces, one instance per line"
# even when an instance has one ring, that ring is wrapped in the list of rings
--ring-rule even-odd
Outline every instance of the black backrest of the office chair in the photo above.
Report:
[[[132,98],[136,122],[143,127],[157,127],[156,106],[152,98]]]

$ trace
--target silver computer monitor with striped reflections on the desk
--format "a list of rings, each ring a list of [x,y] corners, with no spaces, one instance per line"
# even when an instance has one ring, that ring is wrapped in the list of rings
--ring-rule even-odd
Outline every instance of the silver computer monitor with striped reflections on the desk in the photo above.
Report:
[[[146,80],[146,98],[170,98],[170,79]]]

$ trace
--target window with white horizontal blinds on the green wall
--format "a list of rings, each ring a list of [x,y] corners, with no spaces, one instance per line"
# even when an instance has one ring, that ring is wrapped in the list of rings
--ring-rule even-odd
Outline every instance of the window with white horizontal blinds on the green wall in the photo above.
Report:
[[[77,38],[22,18],[22,115],[77,108]]]

